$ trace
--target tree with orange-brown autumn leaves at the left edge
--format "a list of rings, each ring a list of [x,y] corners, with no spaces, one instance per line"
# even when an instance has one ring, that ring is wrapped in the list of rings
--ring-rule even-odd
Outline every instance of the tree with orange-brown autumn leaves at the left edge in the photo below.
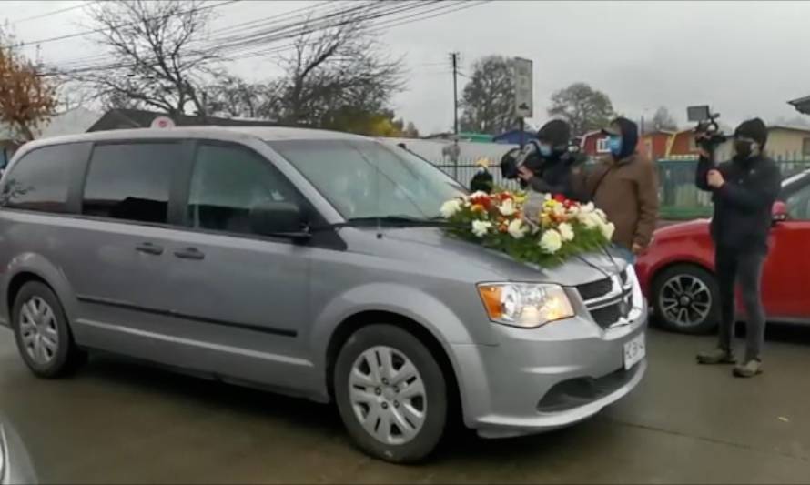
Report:
[[[56,80],[42,76],[42,67],[23,56],[7,25],[0,28],[0,121],[20,141],[33,140],[56,114]]]

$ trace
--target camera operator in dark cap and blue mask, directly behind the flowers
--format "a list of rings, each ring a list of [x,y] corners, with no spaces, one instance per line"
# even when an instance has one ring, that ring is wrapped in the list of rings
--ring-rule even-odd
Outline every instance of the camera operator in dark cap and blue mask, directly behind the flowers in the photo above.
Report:
[[[549,121],[537,133],[537,153],[518,167],[517,176],[535,192],[562,194],[578,200],[572,174],[579,160],[569,151],[571,126],[561,119]]]

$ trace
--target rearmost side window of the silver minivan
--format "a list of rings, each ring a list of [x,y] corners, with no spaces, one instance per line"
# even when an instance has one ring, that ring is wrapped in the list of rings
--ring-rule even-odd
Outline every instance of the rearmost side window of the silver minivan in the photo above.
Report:
[[[70,173],[78,157],[86,157],[81,143],[35,148],[15,164],[0,192],[4,207],[41,212],[67,212]]]

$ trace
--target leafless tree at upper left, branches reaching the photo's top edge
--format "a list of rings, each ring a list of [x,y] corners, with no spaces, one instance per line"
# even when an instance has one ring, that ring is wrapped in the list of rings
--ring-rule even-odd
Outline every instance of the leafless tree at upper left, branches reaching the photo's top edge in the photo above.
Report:
[[[208,25],[210,9],[203,5],[200,0],[110,0],[89,6],[96,40],[116,62],[79,78],[107,106],[147,106],[170,115],[193,106],[204,116],[199,86],[214,72],[218,57],[213,49],[190,48]]]

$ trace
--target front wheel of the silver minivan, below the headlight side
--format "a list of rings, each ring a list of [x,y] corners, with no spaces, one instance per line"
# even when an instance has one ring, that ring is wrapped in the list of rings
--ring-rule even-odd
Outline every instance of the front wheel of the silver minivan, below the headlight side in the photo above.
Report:
[[[408,331],[370,325],[340,349],[334,373],[340,417],[361,450],[393,463],[427,457],[447,422],[447,380]]]

